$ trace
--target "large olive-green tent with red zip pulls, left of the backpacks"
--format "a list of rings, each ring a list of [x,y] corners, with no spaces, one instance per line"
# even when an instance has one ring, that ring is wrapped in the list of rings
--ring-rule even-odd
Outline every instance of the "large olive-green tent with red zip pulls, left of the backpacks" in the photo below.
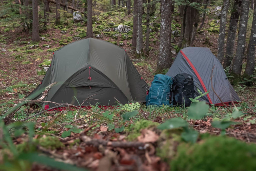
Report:
[[[44,79],[27,98],[40,98],[45,87],[56,81],[44,101],[79,106],[96,94],[83,106],[145,102],[147,83],[125,50],[103,40],[82,39],[55,51]],[[48,102],[41,105],[55,106]]]

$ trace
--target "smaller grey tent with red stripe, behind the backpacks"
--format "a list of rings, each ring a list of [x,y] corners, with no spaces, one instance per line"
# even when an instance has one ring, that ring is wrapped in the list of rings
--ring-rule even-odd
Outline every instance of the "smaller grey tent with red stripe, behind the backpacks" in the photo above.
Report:
[[[212,87],[222,102],[229,105],[232,101],[234,103],[240,101],[237,93],[228,81],[219,60],[212,54],[209,48],[187,47],[180,50],[166,75],[174,77],[182,72],[191,74],[194,78],[195,97],[199,96],[197,88],[202,93],[210,90],[207,95],[199,98],[199,100],[206,101],[209,104],[222,105],[211,88],[210,77],[213,67]]]

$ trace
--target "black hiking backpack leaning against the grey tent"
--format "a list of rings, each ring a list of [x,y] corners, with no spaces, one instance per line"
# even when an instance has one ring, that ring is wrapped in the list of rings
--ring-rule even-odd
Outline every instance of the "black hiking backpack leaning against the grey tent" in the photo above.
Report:
[[[174,106],[190,106],[189,98],[194,99],[195,94],[193,77],[187,73],[177,74],[174,77],[174,86],[170,94],[172,94]]]

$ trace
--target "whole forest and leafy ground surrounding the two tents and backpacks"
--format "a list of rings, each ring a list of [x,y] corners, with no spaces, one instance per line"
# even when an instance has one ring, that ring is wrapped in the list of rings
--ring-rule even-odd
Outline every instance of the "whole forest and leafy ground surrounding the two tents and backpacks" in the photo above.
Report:
[[[255,3],[1,1],[0,170],[255,170]],[[61,112],[27,105],[52,52],[88,37],[124,48],[149,85],[180,49],[208,47],[242,102]]]

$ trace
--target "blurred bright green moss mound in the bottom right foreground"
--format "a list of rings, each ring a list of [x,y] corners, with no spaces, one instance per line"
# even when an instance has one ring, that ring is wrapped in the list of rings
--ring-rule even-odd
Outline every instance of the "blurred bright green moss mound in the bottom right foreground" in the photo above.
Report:
[[[255,144],[220,136],[190,146],[180,144],[169,164],[172,170],[255,170],[255,159]]]

